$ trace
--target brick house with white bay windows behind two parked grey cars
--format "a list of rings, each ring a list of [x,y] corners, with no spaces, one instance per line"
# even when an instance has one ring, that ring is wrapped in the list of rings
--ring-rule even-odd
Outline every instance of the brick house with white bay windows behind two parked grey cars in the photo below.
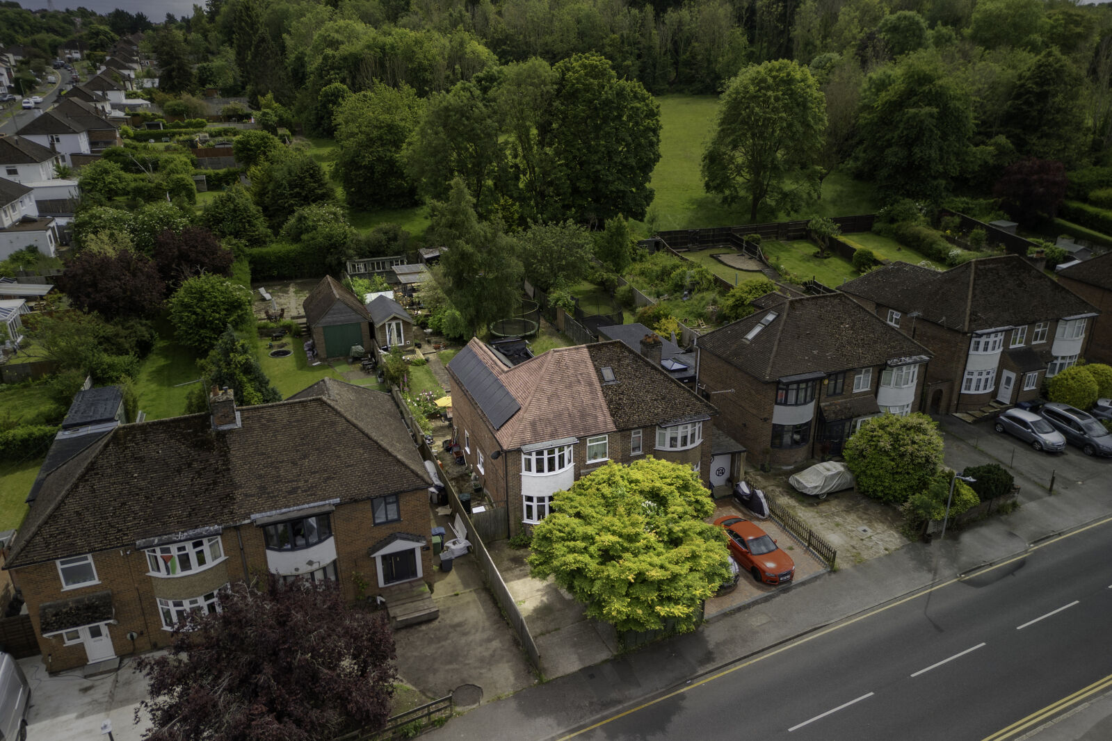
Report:
[[[1084,356],[1096,309],[1021,257],[946,271],[895,262],[841,290],[934,353],[926,411],[966,412],[1035,399]]]

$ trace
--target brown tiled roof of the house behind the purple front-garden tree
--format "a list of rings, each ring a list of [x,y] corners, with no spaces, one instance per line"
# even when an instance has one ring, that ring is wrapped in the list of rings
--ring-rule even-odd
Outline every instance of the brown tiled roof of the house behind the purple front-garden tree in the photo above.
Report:
[[[346,385],[239,408],[238,429],[214,430],[208,413],[115,428],[47,475],[9,564],[430,485],[393,401]]]

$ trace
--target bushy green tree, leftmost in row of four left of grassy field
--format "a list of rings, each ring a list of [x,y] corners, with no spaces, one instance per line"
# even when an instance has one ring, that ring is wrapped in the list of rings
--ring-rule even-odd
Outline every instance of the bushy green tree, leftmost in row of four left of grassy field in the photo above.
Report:
[[[416,201],[417,190],[406,172],[403,151],[423,108],[413,88],[378,83],[337,109],[335,172],[350,206],[404,208]]]

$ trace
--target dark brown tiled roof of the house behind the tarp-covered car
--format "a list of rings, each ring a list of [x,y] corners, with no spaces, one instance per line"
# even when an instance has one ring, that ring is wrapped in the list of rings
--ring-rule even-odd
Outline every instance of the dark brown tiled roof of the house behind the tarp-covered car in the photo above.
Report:
[[[932,354],[843,293],[790,299],[704,334],[698,347],[762,381]]]

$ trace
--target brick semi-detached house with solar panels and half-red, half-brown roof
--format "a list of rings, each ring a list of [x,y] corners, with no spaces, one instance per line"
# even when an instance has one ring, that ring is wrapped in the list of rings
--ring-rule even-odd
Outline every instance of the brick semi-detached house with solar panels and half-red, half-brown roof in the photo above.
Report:
[[[715,408],[668,378],[661,340],[555,348],[507,366],[477,339],[448,363],[453,424],[467,462],[510,534],[548,513],[552,495],[607,461],[655,455],[708,483]]]

